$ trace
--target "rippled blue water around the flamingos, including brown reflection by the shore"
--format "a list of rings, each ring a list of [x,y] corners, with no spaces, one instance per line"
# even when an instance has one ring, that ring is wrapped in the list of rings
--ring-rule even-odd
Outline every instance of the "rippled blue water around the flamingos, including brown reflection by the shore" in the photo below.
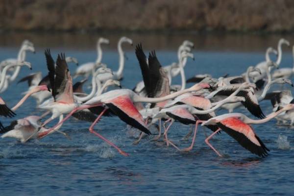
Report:
[[[81,64],[96,59],[95,40],[98,36],[3,35],[0,39],[0,59],[16,56],[22,39],[29,38],[35,43],[37,53],[28,53],[27,60],[32,62],[34,72],[42,71],[45,75],[47,70],[43,51],[46,44],[54,56],[64,51],[67,55],[76,57]],[[157,49],[158,58],[163,65],[176,61],[176,47],[182,40],[189,38],[194,41],[196,61],[188,60],[185,68],[187,78],[195,73],[212,73],[217,77],[225,73],[234,75],[245,72],[248,65],[262,61],[266,47],[275,46],[280,38],[279,35],[232,35],[225,36],[224,40],[228,44],[224,45],[222,37],[214,35],[133,36],[136,43],[143,43],[143,47],[146,43],[146,53],[149,49]],[[111,46],[104,52],[103,62],[115,70],[118,65],[115,40],[118,37],[110,37]],[[250,48],[249,43],[252,40],[253,47]],[[133,88],[142,76],[134,48],[126,45],[123,48],[126,49],[128,60],[122,85]],[[285,52],[281,67],[290,67],[293,62],[291,51],[286,47],[283,50]],[[70,65],[70,70],[73,72],[75,66]],[[31,71],[22,68],[18,78],[28,73]],[[179,82],[180,77],[173,79],[174,84]],[[1,97],[12,106],[21,98],[20,93],[26,88],[25,83],[14,82]],[[271,112],[269,102],[264,101],[261,106],[264,113]],[[242,108],[236,111],[249,115]],[[224,112],[220,111],[219,114]],[[17,111],[15,119],[41,113],[42,111],[35,109],[35,100],[29,98]],[[1,118],[4,125],[10,121],[11,119]],[[71,140],[59,133],[26,144],[14,139],[1,139],[1,195],[292,195],[293,130],[275,123],[272,120],[253,125],[258,136],[270,148],[267,158],[249,153],[225,133],[211,140],[212,145],[225,155],[220,158],[204,143],[202,129],[197,134],[194,149],[187,153],[166,147],[162,140],[153,141],[154,136],[144,138],[139,145],[134,146],[132,142],[138,137],[138,131],[126,126],[116,117],[102,118],[95,130],[130,154],[130,157],[123,157],[114,148],[89,133],[90,123],[71,119],[61,128],[70,135]],[[174,123],[169,137],[180,148],[188,147],[191,140],[181,141],[188,130],[189,126]],[[156,133],[154,128],[151,131]],[[210,133],[209,130],[206,132]]]

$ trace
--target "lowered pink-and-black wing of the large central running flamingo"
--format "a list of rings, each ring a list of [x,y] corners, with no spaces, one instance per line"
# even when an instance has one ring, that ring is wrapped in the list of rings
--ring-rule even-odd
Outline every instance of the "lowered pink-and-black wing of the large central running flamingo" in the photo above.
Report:
[[[147,133],[148,135],[151,134],[143,120],[142,115],[128,96],[119,96],[111,100],[107,100],[105,101],[105,104],[123,122]]]

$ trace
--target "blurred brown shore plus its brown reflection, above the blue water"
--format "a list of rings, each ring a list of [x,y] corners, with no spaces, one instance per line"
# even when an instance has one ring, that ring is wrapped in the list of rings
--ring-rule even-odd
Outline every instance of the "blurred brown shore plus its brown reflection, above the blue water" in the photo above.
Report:
[[[125,35],[152,49],[189,39],[200,50],[264,51],[292,42],[293,18],[293,0],[0,0],[0,46],[95,49],[104,36],[115,49]]]

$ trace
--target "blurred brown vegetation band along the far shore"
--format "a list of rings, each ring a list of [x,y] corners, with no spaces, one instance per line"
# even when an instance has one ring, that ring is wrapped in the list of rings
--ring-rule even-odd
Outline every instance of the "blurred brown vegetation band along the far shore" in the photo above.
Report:
[[[293,0],[0,0],[0,30],[293,32]]]

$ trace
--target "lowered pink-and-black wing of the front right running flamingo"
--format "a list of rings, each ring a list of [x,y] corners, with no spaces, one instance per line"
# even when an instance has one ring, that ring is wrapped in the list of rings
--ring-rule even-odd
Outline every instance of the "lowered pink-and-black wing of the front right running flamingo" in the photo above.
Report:
[[[270,150],[254,133],[253,129],[243,121],[230,117],[221,120],[217,125],[251,153],[261,157],[268,155]]]

